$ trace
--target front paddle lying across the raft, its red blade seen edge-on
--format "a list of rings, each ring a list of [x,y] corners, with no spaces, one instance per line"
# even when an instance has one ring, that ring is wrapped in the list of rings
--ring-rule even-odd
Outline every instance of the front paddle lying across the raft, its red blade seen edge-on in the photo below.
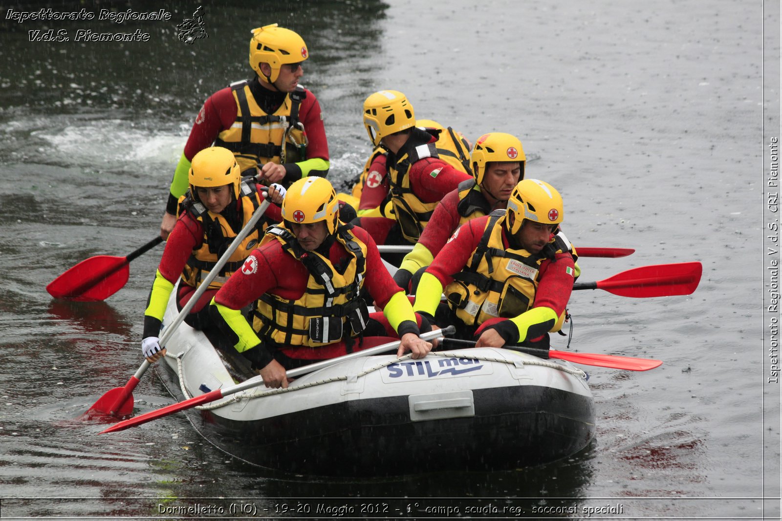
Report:
[[[453,326],[449,326],[442,330],[433,330],[433,331],[429,331],[429,333],[421,334],[421,339],[425,341],[429,341],[432,340],[433,338],[441,337],[444,334],[453,334],[454,331],[455,328]],[[292,378],[294,376],[300,376],[306,373],[312,373],[313,371],[317,371],[318,369],[323,369],[324,367],[333,366],[339,362],[345,362],[346,360],[356,359],[359,357],[370,356],[370,355],[378,355],[380,353],[384,353],[386,351],[399,348],[401,342],[402,341],[398,340],[398,341],[389,342],[388,344],[377,345],[374,348],[364,349],[364,351],[355,351],[348,355],[339,356],[335,359],[328,359],[322,362],[316,362],[314,364],[310,364],[308,366],[298,367],[296,369],[290,369],[289,371],[286,371],[285,374],[290,378]],[[261,376],[253,376],[253,378],[250,378],[249,380],[246,380],[241,384],[232,385],[231,387],[226,387],[224,389],[215,389],[214,391],[210,391],[206,394],[202,394],[201,396],[195,396],[194,398],[190,398],[185,401],[180,401],[179,403],[168,405],[167,407],[163,407],[163,409],[157,409],[156,411],[147,412],[145,414],[142,414],[141,416],[136,416],[135,418],[126,419],[120,423],[116,423],[113,426],[110,426],[106,430],[102,430],[99,434],[110,433],[110,432],[114,432],[115,430],[125,430],[133,426],[141,425],[142,423],[151,422],[153,419],[163,418],[163,416],[169,416],[170,414],[174,414],[174,412],[184,411],[185,409],[192,409],[193,407],[196,407],[198,405],[203,405],[205,403],[209,403],[210,401],[219,400],[220,398],[225,398],[226,396],[230,396],[231,394],[236,394],[240,391],[246,391],[248,389],[252,389],[253,387],[260,387],[263,384],[264,384],[264,379]]]

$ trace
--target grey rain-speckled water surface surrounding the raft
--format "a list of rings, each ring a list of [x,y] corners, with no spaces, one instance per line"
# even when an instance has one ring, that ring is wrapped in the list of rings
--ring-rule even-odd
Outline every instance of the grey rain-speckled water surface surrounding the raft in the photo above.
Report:
[[[385,519],[779,519],[780,386],[768,383],[762,282],[778,2],[203,2],[208,37],[192,45],[176,24],[198,2],[6,3],[0,516],[197,518],[246,504],[256,511],[223,517],[329,517],[315,509],[336,498],[353,507],[345,516]],[[95,19],[6,18],[46,6]],[[97,20],[101,9],[171,17],[114,23]],[[527,175],[561,191],[576,246],[637,250],[583,259],[581,280],[703,263],[690,296],[573,294],[570,349],[665,362],[644,373],[584,368],[597,408],[584,451],[534,469],[332,480],[246,465],[184,415],[102,436],[105,424],[77,419],[142,363],[163,250],[132,262],[106,302],[52,300],[45,286],[83,259],[124,256],[156,236],[196,112],[250,76],[249,30],[274,22],[310,48],[302,83],[324,110],[329,175],[343,190],[371,151],[361,103],[397,89],[418,117],[472,141],[510,132],[540,154]],[[28,31],[49,29],[70,41],[30,41]],[[140,30],[149,41],[75,41],[79,29]],[[152,371],[135,397],[137,413],[171,402]]]

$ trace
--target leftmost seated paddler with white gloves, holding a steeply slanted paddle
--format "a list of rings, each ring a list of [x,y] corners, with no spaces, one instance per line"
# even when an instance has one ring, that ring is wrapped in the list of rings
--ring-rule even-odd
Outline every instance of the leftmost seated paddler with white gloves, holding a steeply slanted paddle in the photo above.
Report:
[[[160,325],[177,279],[181,278],[177,291],[177,308],[181,311],[265,197],[254,177],[242,180],[234,155],[221,147],[204,148],[195,155],[188,181],[188,193],[180,198],[178,205],[181,214],[166,241],[144,312],[142,351],[149,362],[166,354],[159,344]],[[271,200],[279,203],[285,189],[275,185],[268,192]],[[217,289],[242,266],[258,244],[264,223],[277,223],[281,219],[280,208],[270,205],[264,219],[242,241],[185,317],[186,323],[195,329],[206,329],[210,322],[208,304]]]

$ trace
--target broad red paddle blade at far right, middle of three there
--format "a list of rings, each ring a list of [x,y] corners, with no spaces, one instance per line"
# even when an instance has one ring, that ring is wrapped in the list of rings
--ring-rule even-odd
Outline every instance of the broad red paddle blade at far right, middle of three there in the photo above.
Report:
[[[700,262],[642,266],[598,281],[597,289],[636,298],[691,294],[698,287],[702,272]]]

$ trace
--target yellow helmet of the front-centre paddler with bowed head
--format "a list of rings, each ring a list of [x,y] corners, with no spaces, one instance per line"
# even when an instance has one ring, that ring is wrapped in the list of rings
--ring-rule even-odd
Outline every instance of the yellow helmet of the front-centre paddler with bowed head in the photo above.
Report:
[[[292,184],[282,201],[282,219],[296,224],[325,221],[333,234],[339,219],[339,201],[325,177],[304,177]]]

